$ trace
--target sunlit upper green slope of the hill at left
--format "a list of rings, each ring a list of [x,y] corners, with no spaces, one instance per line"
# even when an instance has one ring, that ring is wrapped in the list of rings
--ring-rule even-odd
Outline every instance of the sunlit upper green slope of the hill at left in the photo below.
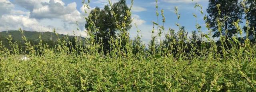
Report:
[[[41,38],[44,41],[49,41],[51,39],[52,36],[52,41],[57,41],[58,37],[59,38],[63,38],[63,34],[58,34],[58,37],[56,36],[56,34],[54,32],[35,32],[35,31],[24,31],[24,36],[26,36],[27,40],[32,40],[35,42],[39,41],[38,36],[41,34]],[[20,31],[17,30],[9,30],[7,31],[2,31],[0,32],[0,39],[6,39],[6,37],[8,37],[8,35],[11,35],[13,40],[19,42],[22,41],[22,34]],[[68,38],[74,38],[75,36],[68,36]],[[82,39],[84,39],[83,37],[80,37]]]

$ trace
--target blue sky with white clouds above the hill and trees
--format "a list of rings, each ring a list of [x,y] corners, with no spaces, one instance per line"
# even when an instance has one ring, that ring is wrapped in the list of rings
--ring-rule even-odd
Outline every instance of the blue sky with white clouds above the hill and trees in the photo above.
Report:
[[[111,1],[118,2],[118,0]],[[128,6],[131,5],[130,0],[126,2]],[[199,8],[194,8],[196,3],[203,6],[204,14],[200,14]],[[86,22],[84,17],[88,14],[84,9],[90,12],[93,8],[103,8],[106,4],[108,0],[90,0],[89,10],[84,8],[82,0],[0,0],[0,31],[22,28],[28,31],[52,32],[55,28],[59,34],[88,37],[84,28]],[[134,0],[132,8],[134,20],[129,30],[131,38],[137,35],[137,30],[140,30],[142,41],[148,44],[152,36],[152,22],[162,25],[162,17],[156,16],[155,5],[155,0]],[[181,15],[180,20],[174,12],[176,6]],[[203,17],[207,14],[207,6],[208,0],[158,0],[158,12],[163,9],[166,17],[165,32],[167,33],[168,28],[178,30],[175,24],[179,23],[180,26],[185,26],[190,36],[191,32],[196,30],[196,18],[193,13],[197,14],[197,22],[202,26],[202,31],[207,32],[203,21]]]

